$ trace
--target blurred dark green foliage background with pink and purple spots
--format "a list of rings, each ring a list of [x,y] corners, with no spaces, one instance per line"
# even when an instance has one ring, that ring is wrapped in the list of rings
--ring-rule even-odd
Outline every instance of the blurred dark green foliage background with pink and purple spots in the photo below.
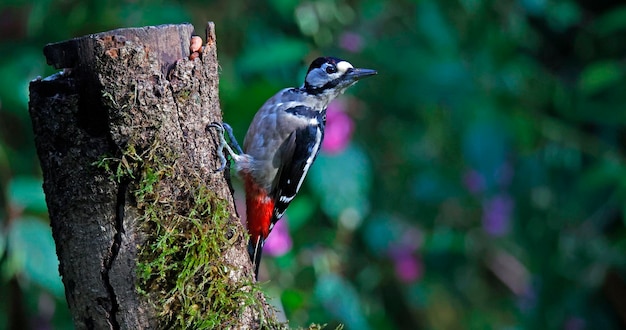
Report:
[[[270,236],[263,288],[292,326],[626,326],[622,1],[3,0],[0,328],[72,327],[27,111],[42,47],[208,20],[239,139],[319,55],[379,71],[331,105]]]

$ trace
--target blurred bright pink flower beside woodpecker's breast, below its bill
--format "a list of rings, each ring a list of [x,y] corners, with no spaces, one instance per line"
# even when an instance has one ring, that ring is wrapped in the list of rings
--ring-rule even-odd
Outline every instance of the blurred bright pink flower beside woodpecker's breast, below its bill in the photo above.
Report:
[[[354,131],[354,122],[344,112],[344,108],[345,105],[342,101],[333,101],[328,106],[324,141],[322,142],[322,150],[326,153],[340,153],[350,143]]]

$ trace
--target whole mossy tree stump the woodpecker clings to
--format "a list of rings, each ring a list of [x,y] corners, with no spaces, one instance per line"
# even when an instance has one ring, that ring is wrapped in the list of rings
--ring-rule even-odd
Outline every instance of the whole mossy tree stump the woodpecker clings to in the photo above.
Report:
[[[78,329],[271,326],[261,323],[274,316],[254,289],[228,173],[215,173],[219,132],[205,129],[222,121],[214,26],[190,60],[192,33],[163,25],[50,44],[48,63],[64,70],[30,84]],[[207,251],[219,253],[194,259]]]

